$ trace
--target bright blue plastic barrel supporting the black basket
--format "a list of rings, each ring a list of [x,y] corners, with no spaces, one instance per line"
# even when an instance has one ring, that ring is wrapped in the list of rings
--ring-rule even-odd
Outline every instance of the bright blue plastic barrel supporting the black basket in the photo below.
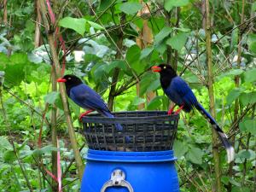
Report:
[[[172,150],[121,152],[88,150],[82,192],[177,192]]]

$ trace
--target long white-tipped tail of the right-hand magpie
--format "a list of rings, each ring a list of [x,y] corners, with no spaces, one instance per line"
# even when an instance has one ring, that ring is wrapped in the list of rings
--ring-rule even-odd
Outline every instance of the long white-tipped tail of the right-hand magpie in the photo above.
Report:
[[[224,134],[224,131],[221,130],[221,128],[218,126],[215,119],[213,119],[212,116],[209,113],[207,113],[207,110],[203,108],[200,103],[195,105],[195,108],[208,120],[208,122],[212,125],[212,127],[217,132],[221,143],[224,145],[224,148],[227,151],[228,163],[233,161],[235,159],[235,150],[231,145],[227,135]]]

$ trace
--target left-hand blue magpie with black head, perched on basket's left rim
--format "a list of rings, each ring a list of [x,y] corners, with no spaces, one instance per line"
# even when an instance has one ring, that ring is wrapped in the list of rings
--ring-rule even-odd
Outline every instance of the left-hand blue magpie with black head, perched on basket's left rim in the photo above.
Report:
[[[58,79],[58,82],[65,83],[67,96],[78,104],[81,108],[89,109],[85,113],[82,113],[79,119],[82,119],[86,114],[96,111],[103,116],[113,118],[113,114],[109,111],[107,104],[102,100],[102,96],[92,90],[86,84],[83,84],[81,79],[75,75],[65,75],[62,79]],[[116,124],[116,129],[123,130],[122,125]]]

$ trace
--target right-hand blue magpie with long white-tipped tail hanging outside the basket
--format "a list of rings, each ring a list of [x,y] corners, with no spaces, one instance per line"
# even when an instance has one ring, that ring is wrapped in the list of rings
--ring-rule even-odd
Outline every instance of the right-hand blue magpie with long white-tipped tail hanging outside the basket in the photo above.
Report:
[[[152,70],[160,73],[160,84],[166,96],[180,107],[177,109],[176,113],[179,113],[181,109],[189,113],[192,109],[196,108],[218,133],[218,137],[227,151],[228,162],[230,163],[234,160],[235,150],[230,144],[228,137],[224,134],[224,131],[220,129],[215,119],[213,119],[212,116],[207,113],[206,109],[197,101],[189,85],[181,79],[181,77],[177,76],[177,73],[170,65],[160,64],[159,66],[152,67]],[[168,114],[172,113],[173,108],[168,111]]]

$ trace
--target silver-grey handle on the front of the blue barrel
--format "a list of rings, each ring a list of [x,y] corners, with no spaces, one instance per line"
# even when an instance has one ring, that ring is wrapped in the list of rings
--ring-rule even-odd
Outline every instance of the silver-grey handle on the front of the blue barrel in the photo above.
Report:
[[[129,192],[133,192],[131,184],[125,181],[125,172],[120,169],[116,169],[111,173],[111,178],[103,184],[101,192],[105,192],[109,187],[125,187]]]

